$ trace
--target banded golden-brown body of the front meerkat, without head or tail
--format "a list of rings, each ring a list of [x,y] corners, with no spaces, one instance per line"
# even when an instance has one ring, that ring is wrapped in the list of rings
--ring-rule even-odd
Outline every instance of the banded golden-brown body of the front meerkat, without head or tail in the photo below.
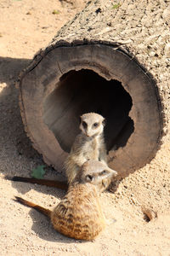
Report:
[[[65,236],[93,240],[105,228],[105,216],[93,184],[75,184],[51,215],[54,229]]]

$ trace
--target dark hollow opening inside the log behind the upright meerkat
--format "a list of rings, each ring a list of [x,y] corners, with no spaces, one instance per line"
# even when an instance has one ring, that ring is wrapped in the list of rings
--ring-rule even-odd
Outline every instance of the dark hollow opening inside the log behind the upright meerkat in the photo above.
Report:
[[[107,149],[124,147],[134,131],[129,117],[132,97],[122,83],[106,80],[90,69],[71,70],[60,77],[43,104],[43,121],[53,131],[60,147],[69,152],[77,133],[79,116],[95,112],[106,119]]]

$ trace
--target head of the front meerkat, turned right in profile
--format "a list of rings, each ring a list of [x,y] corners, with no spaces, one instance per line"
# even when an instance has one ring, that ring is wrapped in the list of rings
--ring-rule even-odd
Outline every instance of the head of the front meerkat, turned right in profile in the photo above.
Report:
[[[117,172],[105,163],[98,160],[88,160],[82,165],[82,169],[77,176],[80,183],[94,184],[99,192],[102,192],[116,175]]]

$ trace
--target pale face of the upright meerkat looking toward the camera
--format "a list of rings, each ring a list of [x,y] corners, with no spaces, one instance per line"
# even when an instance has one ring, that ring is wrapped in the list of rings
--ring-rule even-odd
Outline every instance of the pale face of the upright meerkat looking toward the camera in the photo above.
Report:
[[[105,119],[99,113],[84,113],[81,116],[80,130],[87,136],[93,137],[103,132]]]

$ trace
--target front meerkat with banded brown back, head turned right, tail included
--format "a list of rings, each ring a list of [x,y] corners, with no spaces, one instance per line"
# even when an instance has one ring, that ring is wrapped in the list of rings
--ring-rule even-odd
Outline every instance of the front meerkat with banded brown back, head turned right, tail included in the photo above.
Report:
[[[114,176],[116,172],[104,163],[88,160],[72,179],[65,197],[53,211],[18,196],[15,201],[48,216],[54,229],[65,236],[94,240],[106,225],[105,215],[99,203],[99,193],[105,190]]]

